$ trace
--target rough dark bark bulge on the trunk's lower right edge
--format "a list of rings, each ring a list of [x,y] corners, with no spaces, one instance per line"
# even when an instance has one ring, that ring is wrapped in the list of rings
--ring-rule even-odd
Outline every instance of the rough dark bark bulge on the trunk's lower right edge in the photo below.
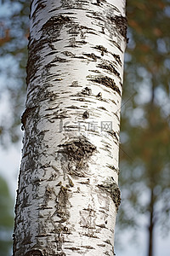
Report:
[[[114,181],[113,177],[108,177],[103,184],[97,185],[100,189],[105,189],[111,195],[112,201],[114,201],[116,206],[116,211],[118,211],[118,207],[121,204],[121,191]]]

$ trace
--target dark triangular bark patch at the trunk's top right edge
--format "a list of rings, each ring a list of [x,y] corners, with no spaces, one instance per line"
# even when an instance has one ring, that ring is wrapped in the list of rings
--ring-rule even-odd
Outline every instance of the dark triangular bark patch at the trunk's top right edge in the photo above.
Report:
[[[115,23],[117,31],[123,38],[127,39],[127,18],[123,16],[115,16],[110,18]]]

